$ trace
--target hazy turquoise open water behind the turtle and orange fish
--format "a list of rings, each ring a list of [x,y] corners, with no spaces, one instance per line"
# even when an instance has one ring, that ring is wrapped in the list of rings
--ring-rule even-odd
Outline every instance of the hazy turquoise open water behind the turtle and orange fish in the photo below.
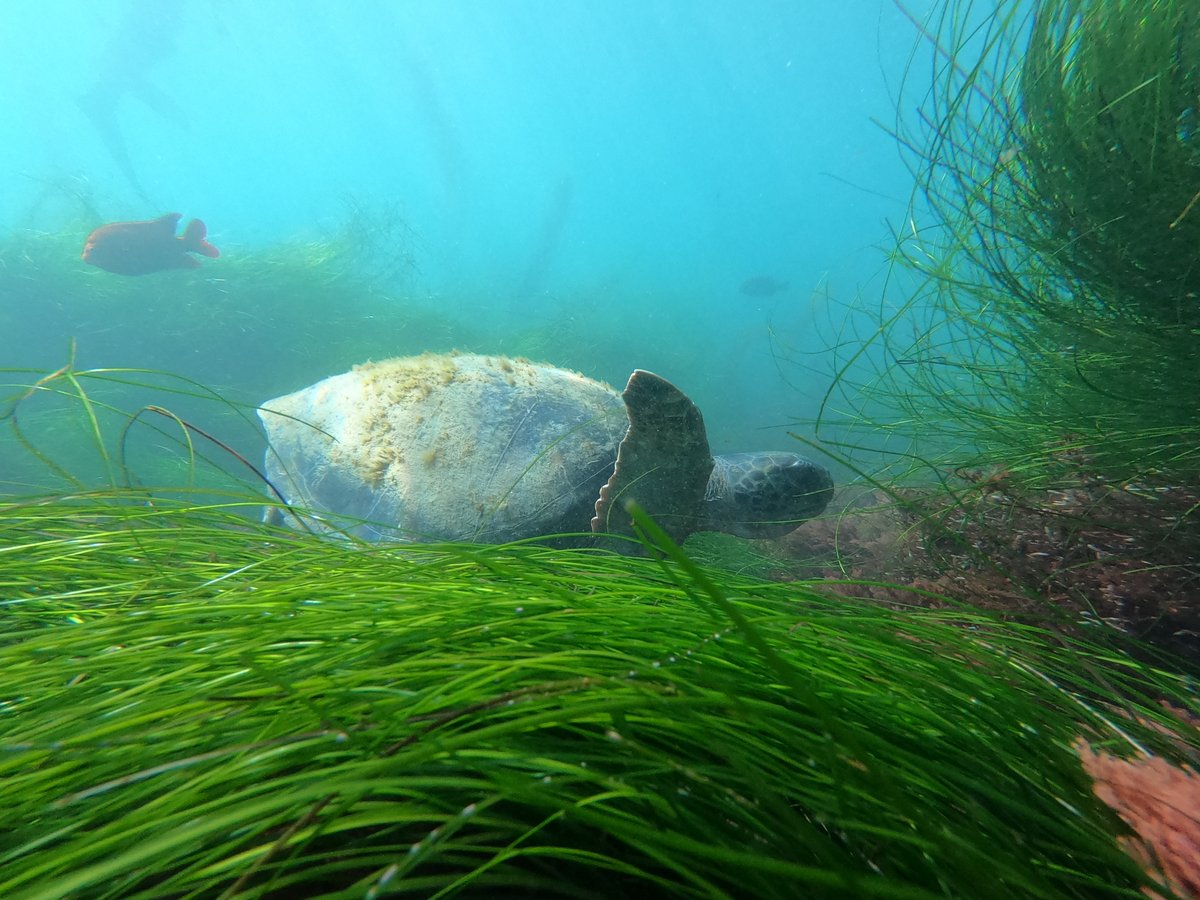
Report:
[[[56,368],[76,338],[79,366],[252,404],[367,358],[521,353],[618,385],[658,371],[715,450],[788,449],[828,348],[888,302],[912,180],[884,126],[931,55],[892,0],[6,16],[0,241],[22,277],[0,367]],[[91,228],[168,211],[222,257],[142,277],[79,260]],[[347,234],[362,252],[322,269],[341,280],[296,271]],[[16,258],[30,235],[36,259]],[[260,452],[252,428],[223,433]]]

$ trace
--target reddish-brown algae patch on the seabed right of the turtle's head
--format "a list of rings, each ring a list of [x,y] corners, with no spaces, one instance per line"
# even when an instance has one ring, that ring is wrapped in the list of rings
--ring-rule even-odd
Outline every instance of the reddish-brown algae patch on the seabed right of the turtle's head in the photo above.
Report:
[[[1200,490],[1086,470],[1040,488],[1003,472],[959,475],[955,494],[844,502],[842,515],[782,540],[797,568],[781,577],[881,582],[836,589],[904,606],[950,598],[1014,617],[1067,612],[1200,659]]]

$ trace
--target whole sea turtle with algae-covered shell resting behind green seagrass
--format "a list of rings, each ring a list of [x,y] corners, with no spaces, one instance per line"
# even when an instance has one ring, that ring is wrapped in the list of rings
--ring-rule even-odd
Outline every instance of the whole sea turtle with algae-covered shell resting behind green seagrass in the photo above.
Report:
[[[642,370],[618,394],[523,359],[425,354],[356,366],[259,416],[266,476],[296,512],[268,518],[367,540],[629,534],[630,498],[676,540],[776,536],[833,493],[797,454],[714,458],[695,404]]]

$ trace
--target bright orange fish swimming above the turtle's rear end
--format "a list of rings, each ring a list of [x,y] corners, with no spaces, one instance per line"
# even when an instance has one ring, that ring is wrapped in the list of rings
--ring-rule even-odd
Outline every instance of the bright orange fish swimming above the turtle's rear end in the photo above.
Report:
[[[114,222],[88,235],[83,262],[98,265],[116,275],[149,275],[164,269],[197,269],[200,260],[188,253],[203,253],[216,259],[221,251],[204,240],[208,229],[193,218],[184,234],[175,236],[179,212],[149,222]]]

